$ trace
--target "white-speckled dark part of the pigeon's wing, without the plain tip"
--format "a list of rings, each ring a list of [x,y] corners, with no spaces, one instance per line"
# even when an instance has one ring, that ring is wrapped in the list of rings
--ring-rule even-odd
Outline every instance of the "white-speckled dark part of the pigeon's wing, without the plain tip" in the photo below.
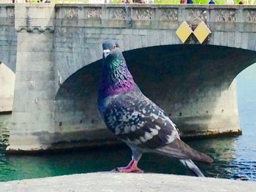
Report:
[[[142,93],[114,96],[104,118],[116,137],[141,148],[155,149],[179,139],[176,125]]]

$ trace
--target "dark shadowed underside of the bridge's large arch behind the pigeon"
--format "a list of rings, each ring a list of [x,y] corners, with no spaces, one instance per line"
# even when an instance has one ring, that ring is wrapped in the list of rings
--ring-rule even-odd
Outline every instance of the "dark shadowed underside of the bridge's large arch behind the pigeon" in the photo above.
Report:
[[[231,92],[229,88],[239,72],[256,62],[254,51],[215,45],[163,45],[125,51],[124,58],[141,91],[167,112],[184,137],[220,133],[222,122],[226,122],[225,131],[239,127],[238,121],[230,122],[230,110],[236,104],[228,107],[236,100],[229,100],[236,99],[236,88]],[[108,131],[101,131],[105,124],[97,110],[101,63],[95,61],[72,74],[56,94],[55,120],[61,130],[75,130],[78,139],[107,137]],[[98,132],[86,134],[91,130]]]

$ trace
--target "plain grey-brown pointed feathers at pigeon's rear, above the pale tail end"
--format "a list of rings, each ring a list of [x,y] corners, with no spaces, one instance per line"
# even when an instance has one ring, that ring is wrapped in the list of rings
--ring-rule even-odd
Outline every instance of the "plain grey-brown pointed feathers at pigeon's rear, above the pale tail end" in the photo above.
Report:
[[[213,159],[210,156],[192,149],[192,147],[189,147],[189,145],[187,145],[180,139],[175,139],[170,144],[164,147],[157,148],[156,152],[162,155],[173,156],[175,158],[181,159],[192,159],[208,164],[211,164],[213,162]]]

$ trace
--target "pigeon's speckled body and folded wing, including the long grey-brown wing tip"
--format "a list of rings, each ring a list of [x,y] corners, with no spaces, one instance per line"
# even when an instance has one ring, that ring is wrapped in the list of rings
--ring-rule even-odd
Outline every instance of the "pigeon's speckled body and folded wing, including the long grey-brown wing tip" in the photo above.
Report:
[[[139,88],[106,98],[102,115],[116,137],[136,150],[207,163],[213,161],[181,141],[176,125]]]

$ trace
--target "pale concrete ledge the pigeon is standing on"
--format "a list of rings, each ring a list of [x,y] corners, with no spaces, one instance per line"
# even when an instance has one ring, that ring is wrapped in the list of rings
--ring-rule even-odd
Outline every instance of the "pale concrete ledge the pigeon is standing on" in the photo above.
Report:
[[[101,192],[248,192],[256,190],[256,182],[199,178],[172,174],[89,173],[18,180],[0,183],[5,191],[101,191]]]

